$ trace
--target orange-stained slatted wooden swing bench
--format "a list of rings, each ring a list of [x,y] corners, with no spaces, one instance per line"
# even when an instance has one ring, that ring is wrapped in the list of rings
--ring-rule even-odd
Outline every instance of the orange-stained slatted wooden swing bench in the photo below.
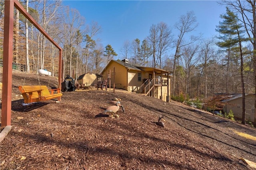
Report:
[[[24,103],[47,101],[62,96],[60,88],[49,90],[46,85],[19,86],[19,90],[24,98]]]

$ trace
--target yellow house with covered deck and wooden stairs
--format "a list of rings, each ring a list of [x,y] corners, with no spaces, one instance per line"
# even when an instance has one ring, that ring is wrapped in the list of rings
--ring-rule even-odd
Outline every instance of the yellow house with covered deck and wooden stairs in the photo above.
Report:
[[[137,66],[127,59],[111,60],[102,71],[102,77],[108,79],[111,87],[115,85],[118,89],[170,101],[170,75],[166,70]]]

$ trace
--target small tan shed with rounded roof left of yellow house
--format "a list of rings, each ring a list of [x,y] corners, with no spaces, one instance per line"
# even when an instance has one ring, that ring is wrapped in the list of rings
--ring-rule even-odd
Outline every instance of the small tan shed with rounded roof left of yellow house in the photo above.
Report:
[[[77,79],[77,82],[82,86],[94,86],[97,81],[97,75],[91,72],[82,74]]]

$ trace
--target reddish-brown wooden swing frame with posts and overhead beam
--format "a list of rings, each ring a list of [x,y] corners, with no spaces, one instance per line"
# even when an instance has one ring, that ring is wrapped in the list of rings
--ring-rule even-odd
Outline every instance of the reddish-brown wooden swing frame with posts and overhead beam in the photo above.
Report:
[[[12,45],[14,7],[20,11],[50,42],[59,49],[58,85],[62,82],[62,48],[46,33],[17,0],[4,0],[4,46],[2,77],[2,118],[1,128],[11,125],[12,107]],[[60,101],[60,97],[58,97]]]

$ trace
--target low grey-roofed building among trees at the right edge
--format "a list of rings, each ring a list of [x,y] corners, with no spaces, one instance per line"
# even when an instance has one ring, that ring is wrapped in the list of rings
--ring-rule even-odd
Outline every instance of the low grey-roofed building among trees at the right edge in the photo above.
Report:
[[[245,119],[250,122],[254,122],[254,97],[254,94],[245,95]],[[232,110],[234,117],[242,119],[242,94],[222,102],[225,103],[223,106],[224,113],[229,113]]]

